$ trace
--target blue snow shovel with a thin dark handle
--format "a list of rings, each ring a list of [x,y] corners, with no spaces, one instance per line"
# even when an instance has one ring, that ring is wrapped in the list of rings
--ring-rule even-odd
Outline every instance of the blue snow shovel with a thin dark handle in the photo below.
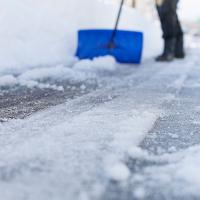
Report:
[[[78,32],[79,59],[93,59],[111,55],[120,63],[141,62],[143,50],[143,33],[118,30],[124,0],[121,1],[114,30],[80,30]]]

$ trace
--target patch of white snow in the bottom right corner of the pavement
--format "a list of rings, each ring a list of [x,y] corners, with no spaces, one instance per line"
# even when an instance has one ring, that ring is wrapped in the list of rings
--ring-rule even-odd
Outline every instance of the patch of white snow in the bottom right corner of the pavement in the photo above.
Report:
[[[145,185],[150,184],[151,188],[158,185],[162,189],[169,187],[171,192],[177,196],[193,195],[197,197],[200,195],[199,157],[199,145],[178,153],[173,152],[161,156],[149,154],[145,157],[147,162],[153,161],[166,164],[147,167],[139,180],[145,183]],[[132,177],[133,182],[138,181],[137,176]],[[184,188],[181,194],[180,188]]]

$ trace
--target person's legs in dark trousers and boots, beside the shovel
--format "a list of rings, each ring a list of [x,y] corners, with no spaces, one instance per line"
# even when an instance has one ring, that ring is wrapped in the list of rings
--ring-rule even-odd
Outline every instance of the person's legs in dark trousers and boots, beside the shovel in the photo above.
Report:
[[[164,51],[156,58],[157,61],[172,61],[176,55],[181,57],[183,32],[176,13],[177,3],[178,0],[162,0],[157,4],[164,39]]]

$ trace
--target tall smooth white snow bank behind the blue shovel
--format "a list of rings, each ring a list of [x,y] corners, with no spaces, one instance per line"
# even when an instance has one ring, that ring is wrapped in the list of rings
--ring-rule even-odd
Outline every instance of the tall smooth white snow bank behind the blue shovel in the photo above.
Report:
[[[77,30],[112,28],[117,9],[98,0],[0,0],[0,74],[73,65]],[[124,9],[120,28],[144,31],[144,57],[157,49],[157,29],[135,10]]]

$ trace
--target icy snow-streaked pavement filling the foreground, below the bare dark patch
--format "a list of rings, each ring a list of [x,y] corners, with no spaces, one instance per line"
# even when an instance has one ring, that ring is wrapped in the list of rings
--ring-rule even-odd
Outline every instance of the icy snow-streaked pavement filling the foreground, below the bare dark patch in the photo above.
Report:
[[[196,52],[127,66],[88,94],[0,124],[1,198],[200,198]]]

